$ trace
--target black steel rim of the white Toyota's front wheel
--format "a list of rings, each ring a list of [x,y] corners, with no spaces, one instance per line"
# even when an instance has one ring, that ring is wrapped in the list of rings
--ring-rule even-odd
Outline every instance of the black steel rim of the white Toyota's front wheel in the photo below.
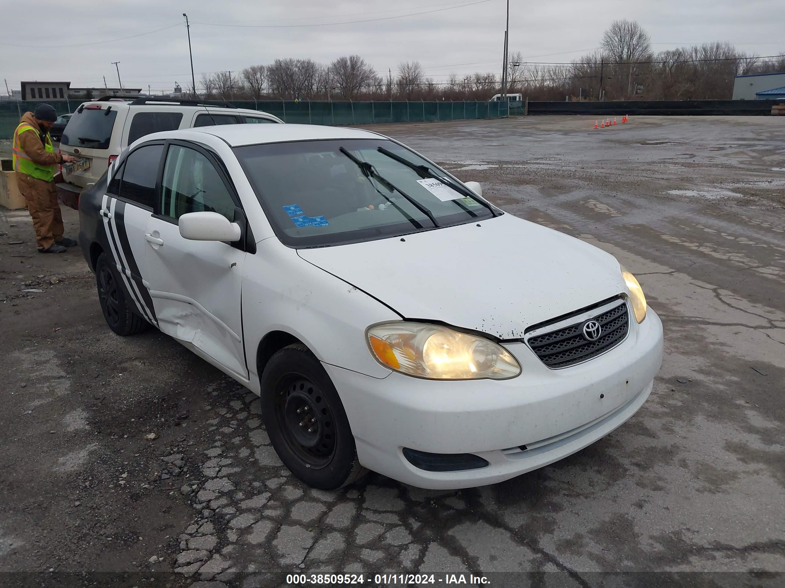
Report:
[[[283,440],[306,467],[320,470],[330,464],[336,449],[335,420],[316,384],[301,374],[284,376],[276,387],[275,413]]]

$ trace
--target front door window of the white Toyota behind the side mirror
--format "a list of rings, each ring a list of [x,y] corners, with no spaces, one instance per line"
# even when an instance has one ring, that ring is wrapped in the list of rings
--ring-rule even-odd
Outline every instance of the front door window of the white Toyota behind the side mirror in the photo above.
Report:
[[[217,212],[234,221],[235,201],[205,155],[172,145],[163,168],[161,214],[177,220],[187,212]]]

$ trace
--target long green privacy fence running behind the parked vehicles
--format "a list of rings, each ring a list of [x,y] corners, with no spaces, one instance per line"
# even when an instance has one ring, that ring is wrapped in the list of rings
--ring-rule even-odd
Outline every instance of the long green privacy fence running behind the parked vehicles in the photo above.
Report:
[[[153,100],[153,99],[151,99]],[[57,114],[66,114],[82,101],[51,102]],[[506,116],[501,102],[477,100],[383,100],[353,102],[352,100],[235,100],[239,108],[250,108],[275,114],[283,122],[305,125],[373,125],[382,122],[460,121]],[[0,139],[10,139],[20,114],[34,111],[38,102],[0,100]],[[150,105],[149,107],[152,107]]]

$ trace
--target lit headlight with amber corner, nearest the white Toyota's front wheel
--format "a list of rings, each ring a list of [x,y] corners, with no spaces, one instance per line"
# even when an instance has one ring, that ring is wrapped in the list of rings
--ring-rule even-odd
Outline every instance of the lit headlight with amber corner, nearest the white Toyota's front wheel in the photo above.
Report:
[[[390,322],[367,330],[368,347],[387,368],[427,379],[506,379],[520,365],[504,347],[440,325]]]

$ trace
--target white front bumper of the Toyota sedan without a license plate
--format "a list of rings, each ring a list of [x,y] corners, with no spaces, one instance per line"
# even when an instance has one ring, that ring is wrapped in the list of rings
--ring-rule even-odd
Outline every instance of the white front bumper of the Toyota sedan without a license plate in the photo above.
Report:
[[[663,325],[649,309],[623,343],[586,363],[547,368],[524,343],[506,345],[522,372],[509,380],[385,379],[325,365],[352,426],[360,463],[421,488],[495,484],[592,444],[641,408],[663,359]],[[520,450],[525,445],[527,449]],[[403,448],[473,453],[489,465],[433,472]]]

